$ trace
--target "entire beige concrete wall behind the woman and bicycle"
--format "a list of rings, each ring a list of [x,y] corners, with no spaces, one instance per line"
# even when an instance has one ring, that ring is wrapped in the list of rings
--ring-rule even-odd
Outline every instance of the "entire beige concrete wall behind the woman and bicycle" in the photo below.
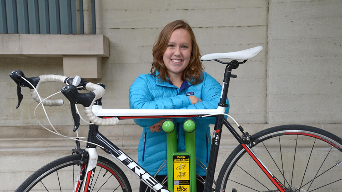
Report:
[[[89,2],[84,2],[87,12]],[[96,1],[97,34],[109,38],[110,56],[102,59],[103,78],[88,80],[106,85],[103,103],[107,108],[128,108],[129,86],[139,74],[149,72],[156,36],[167,23],[185,19],[193,27],[202,54],[264,47],[262,53],[233,72],[238,78],[232,79],[228,93],[229,113],[239,123],[248,123],[244,128],[250,133],[271,126],[267,123],[302,123],[315,124],[341,137],[341,10],[340,0],[175,0],[157,4],[153,0]],[[86,32],[91,31],[90,22],[89,18],[85,20]],[[33,116],[36,104],[26,88],[22,89],[21,106],[15,109],[16,87],[8,76],[17,69],[27,77],[62,75],[62,62],[62,58],[53,57],[0,57],[1,165],[8,167],[13,165],[12,159],[20,161],[26,155],[31,159],[38,155],[44,161],[27,162],[24,172],[0,167],[4,178],[0,186],[6,186],[0,191],[13,191],[17,187],[13,180],[22,182],[51,157],[55,158],[51,154],[63,156],[66,152],[60,150],[74,147],[73,141],[37,126]],[[222,81],[224,65],[212,61],[204,65],[209,74]],[[58,83],[42,84],[39,90],[46,97],[60,88]],[[72,134],[68,105],[49,108],[48,114],[59,131]],[[37,116],[47,125],[41,110]],[[86,135],[87,127],[83,125],[80,134]],[[120,148],[133,149],[129,153],[135,157],[141,128],[133,121],[102,130]],[[236,145],[228,133],[222,138],[223,146]],[[30,150],[36,152],[27,152]],[[50,157],[37,150],[44,150]],[[230,151],[231,148],[224,149],[220,155]],[[222,163],[221,160],[218,165]],[[134,181],[134,177],[129,179]],[[132,185],[137,188],[136,183]]]

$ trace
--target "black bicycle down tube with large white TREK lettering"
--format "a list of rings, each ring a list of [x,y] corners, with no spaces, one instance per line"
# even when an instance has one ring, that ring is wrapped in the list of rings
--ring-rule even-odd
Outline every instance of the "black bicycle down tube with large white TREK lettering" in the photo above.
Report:
[[[95,136],[97,144],[103,146],[105,152],[109,153],[114,159],[119,161],[122,165],[126,166],[132,173],[134,173],[141,181],[150,186],[152,190],[157,192],[169,192],[169,190],[157,181],[152,175],[146,172],[141,166],[133,161],[126,153],[122,152],[116,145],[110,142],[101,133]]]

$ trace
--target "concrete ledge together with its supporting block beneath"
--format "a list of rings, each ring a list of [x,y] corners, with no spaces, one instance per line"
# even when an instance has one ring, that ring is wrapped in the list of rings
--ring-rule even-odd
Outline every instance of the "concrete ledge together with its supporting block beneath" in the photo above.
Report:
[[[63,57],[64,76],[102,78],[102,59],[109,57],[104,35],[0,34],[0,56]]]

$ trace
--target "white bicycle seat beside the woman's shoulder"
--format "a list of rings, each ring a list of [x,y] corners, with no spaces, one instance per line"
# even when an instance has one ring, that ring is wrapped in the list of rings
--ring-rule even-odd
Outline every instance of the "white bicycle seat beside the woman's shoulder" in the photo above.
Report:
[[[211,53],[207,55],[203,55],[201,57],[202,61],[210,61],[215,59],[237,59],[237,60],[247,60],[255,55],[258,55],[262,51],[262,46],[253,47],[250,49],[229,52],[229,53]]]

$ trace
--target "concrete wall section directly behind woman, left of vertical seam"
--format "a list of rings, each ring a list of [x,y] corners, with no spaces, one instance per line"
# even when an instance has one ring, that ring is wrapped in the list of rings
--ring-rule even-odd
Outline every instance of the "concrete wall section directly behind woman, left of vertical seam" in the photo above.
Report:
[[[97,32],[110,40],[110,57],[103,60],[102,79],[109,86],[106,89],[113,90],[105,98],[107,104],[119,108],[128,106],[130,84],[139,74],[149,72],[152,45],[161,29],[173,20],[187,20],[202,54],[238,51],[257,45],[266,50],[266,0],[173,1],[151,7],[153,3],[129,0],[110,6],[111,1],[97,1]],[[239,121],[266,122],[266,53],[237,69],[239,78],[231,81],[230,113]],[[204,65],[209,74],[222,82],[224,65],[216,62]]]

